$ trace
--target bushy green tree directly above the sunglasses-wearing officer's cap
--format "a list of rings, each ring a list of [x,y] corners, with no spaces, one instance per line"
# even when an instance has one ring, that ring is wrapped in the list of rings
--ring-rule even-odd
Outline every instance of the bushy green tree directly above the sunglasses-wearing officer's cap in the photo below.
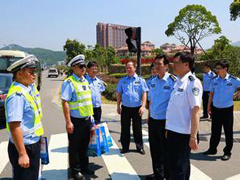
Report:
[[[67,62],[79,54],[85,54],[85,48],[85,45],[78,42],[76,39],[67,39],[65,45],[63,46],[63,50],[66,51]]]

